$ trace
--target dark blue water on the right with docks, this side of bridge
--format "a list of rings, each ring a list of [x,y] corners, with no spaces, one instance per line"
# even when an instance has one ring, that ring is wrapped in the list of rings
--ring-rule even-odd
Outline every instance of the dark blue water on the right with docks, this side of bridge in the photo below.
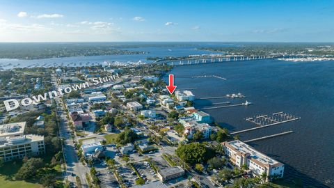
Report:
[[[173,69],[179,88],[192,88],[196,97],[243,93],[246,99],[196,100],[198,108],[230,101],[253,105],[205,110],[232,132],[255,127],[244,118],[285,111],[300,120],[240,134],[241,140],[293,130],[250,145],[285,164],[285,178],[304,185],[334,187],[334,62],[295,63],[276,60],[185,65]],[[227,80],[200,75],[218,75]],[[225,105],[225,104],[223,104]],[[212,107],[212,106],[211,106]]]

